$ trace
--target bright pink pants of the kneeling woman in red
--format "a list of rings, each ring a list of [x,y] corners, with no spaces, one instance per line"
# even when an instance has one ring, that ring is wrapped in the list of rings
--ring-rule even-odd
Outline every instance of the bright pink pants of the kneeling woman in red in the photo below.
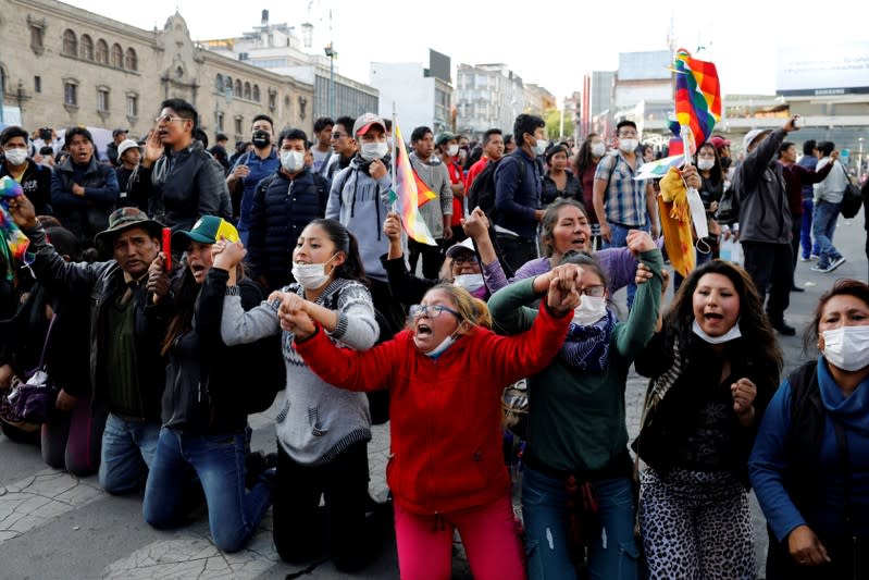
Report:
[[[459,530],[475,580],[524,580],[519,528],[509,496],[439,516],[411,514],[395,503],[398,568],[404,580],[448,580],[452,532]]]

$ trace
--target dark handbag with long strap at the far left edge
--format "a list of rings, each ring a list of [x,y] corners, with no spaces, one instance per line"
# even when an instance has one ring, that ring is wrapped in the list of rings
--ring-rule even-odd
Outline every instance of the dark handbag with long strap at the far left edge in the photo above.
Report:
[[[58,398],[58,391],[52,386],[45,368],[48,341],[57,318],[58,316],[53,314],[48,324],[39,366],[26,373],[25,382],[13,378],[9,393],[0,402],[0,419],[24,431],[35,431],[45,423]]]

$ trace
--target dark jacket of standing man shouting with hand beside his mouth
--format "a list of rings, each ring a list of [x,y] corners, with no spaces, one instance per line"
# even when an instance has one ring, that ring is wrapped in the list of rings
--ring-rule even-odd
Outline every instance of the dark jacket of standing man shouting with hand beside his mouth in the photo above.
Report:
[[[148,213],[173,232],[191,230],[202,215],[233,219],[223,168],[199,141],[177,152],[166,151],[151,168],[137,166],[129,176],[127,196],[148,199]]]

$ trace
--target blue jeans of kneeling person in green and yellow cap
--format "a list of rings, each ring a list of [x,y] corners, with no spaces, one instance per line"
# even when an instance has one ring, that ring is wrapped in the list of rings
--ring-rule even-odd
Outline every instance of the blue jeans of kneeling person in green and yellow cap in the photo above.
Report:
[[[245,433],[184,434],[160,430],[141,511],[154,528],[174,528],[184,521],[186,488],[191,471],[202,484],[214,544],[237,552],[257,530],[272,505],[272,483],[258,482],[245,490]]]

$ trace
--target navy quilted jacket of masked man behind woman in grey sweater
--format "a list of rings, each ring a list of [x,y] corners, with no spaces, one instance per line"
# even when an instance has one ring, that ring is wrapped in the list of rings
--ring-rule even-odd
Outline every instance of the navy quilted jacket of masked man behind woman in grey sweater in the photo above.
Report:
[[[301,231],[326,212],[328,180],[306,168],[290,180],[277,171],[262,180],[251,196],[248,256],[253,277],[265,279],[269,289],[293,279],[293,249]]]

